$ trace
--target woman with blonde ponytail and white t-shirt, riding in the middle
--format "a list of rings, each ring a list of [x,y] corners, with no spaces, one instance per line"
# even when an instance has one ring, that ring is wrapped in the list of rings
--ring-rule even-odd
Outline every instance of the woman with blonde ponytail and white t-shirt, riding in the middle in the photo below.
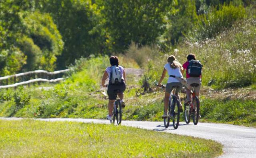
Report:
[[[170,55],[167,58],[167,64],[164,65],[164,70],[162,72],[162,76],[158,82],[158,86],[161,86],[161,82],[164,79],[166,72],[168,72],[169,78],[166,84],[165,89],[165,95],[164,95],[164,115],[163,118],[167,117],[167,107],[168,107],[168,101],[170,98],[170,93],[173,90],[173,86],[179,86],[179,88],[176,88],[176,94],[180,92],[182,88],[182,83],[175,77],[183,77],[181,70],[183,70],[182,65],[176,60],[174,55]],[[180,97],[178,98],[180,100]],[[180,104],[180,112],[182,112],[182,105]]]

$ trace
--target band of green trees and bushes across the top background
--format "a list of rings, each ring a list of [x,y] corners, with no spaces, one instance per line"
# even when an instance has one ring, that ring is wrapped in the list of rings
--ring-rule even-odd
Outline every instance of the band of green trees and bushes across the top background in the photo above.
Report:
[[[62,69],[89,55],[212,38],[246,17],[253,0],[5,0],[0,75]],[[248,9],[250,10],[250,9]]]

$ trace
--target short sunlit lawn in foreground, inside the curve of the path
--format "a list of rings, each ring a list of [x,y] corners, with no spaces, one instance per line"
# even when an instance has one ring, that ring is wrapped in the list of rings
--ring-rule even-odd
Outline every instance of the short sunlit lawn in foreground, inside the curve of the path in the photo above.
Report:
[[[133,127],[31,119],[0,124],[3,157],[200,158],[222,153],[222,145],[212,140]]]

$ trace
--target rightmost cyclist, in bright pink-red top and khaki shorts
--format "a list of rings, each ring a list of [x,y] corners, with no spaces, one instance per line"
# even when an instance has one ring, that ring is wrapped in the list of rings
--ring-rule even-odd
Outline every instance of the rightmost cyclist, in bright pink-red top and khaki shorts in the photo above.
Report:
[[[189,61],[190,60],[196,60],[196,56],[194,54],[189,54],[187,57],[187,61],[183,64],[183,70],[182,70],[182,74],[184,72],[184,70],[186,69],[186,80],[187,80],[187,90],[186,90],[186,101],[185,104],[189,103],[191,101],[190,95],[191,95],[191,84],[196,83],[199,84],[199,86],[195,87],[195,95],[198,96],[199,98],[199,91],[200,91],[200,87],[201,87],[201,75],[199,77],[191,77],[188,74],[188,65],[189,65]]]

